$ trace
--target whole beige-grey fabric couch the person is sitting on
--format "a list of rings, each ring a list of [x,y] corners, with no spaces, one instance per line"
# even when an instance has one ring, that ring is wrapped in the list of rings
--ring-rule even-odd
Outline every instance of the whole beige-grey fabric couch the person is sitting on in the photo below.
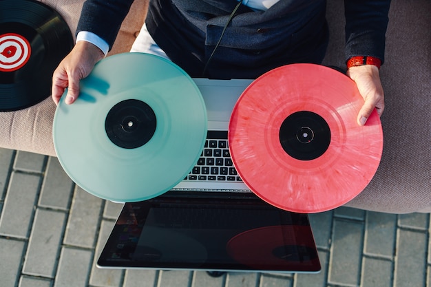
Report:
[[[83,0],[43,0],[74,32]],[[328,1],[326,65],[344,65],[343,0]],[[145,19],[136,0],[110,54],[127,52]],[[388,213],[431,212],[431,1],[392,0],[381,80],[383,158],[368,187],[347,206]],[[0,147],[55,156],[50,98],[28,109],[0,113]],[[370,138],[372,140],[372,138]]]

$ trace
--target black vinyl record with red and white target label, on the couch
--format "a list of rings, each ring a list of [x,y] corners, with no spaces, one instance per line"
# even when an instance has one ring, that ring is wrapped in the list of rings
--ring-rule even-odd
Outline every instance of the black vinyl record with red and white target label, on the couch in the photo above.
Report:
[[[51,94],[52,73],[72,50],[61,15],[31,0],[0,1],[0,111],[15,111]]]

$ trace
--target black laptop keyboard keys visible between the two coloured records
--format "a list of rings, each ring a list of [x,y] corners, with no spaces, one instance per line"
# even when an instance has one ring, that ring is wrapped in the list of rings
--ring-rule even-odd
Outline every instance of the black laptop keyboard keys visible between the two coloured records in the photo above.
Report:
[[[227,131],[208,131],[198,163],[185,178],[188,181],[242,182],[233,166]]]

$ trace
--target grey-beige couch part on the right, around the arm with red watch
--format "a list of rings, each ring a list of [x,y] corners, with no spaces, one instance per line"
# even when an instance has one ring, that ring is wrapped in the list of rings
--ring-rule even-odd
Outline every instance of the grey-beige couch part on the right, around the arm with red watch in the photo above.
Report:
[[[328,21],[337,31],[325,59],[328,65],[344,65],[342,2],[328,1]],[[381,67],[383,156],[368,187],[347,206],[390,213],[431,211],[430,17],[428,0],[392,0]]]

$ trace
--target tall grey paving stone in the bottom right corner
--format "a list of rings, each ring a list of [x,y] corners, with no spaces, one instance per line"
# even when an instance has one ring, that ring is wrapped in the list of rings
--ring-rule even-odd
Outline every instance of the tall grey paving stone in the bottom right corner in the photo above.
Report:
[[[394,286],[425,287],[427,235],[398,229],[397,238]]]

